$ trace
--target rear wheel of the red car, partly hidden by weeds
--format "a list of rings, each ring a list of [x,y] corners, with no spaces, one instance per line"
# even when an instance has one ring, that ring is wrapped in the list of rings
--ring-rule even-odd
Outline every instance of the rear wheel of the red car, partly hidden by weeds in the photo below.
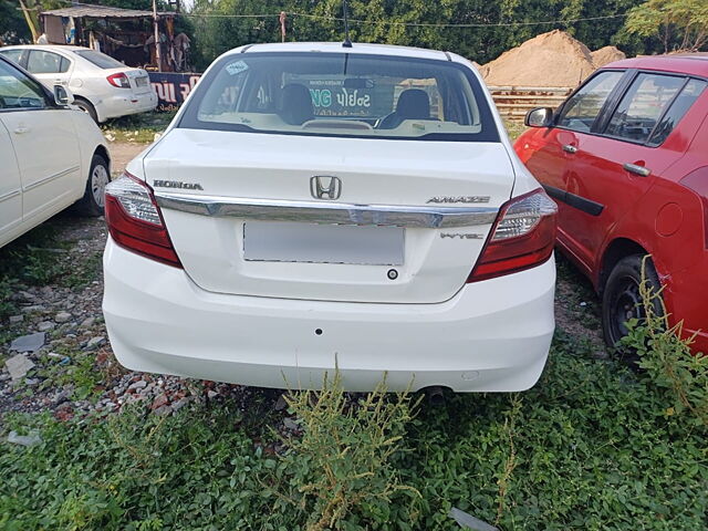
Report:
[[[643,320],[646,316],[639,294],[643,260],[643,254],[632,254],[620,260],[607,278],[602,296],[602,330],[605,343],[616,348],[623,360],[632,363],[637,361],[636,353],[621,348],[618,343],[628,333],[626,321]],[[645,274],[649,288],[657,293],[662,283],[650,259],[646,260]],[[654,299],[653,304],[655,314],[664,315],[664,304],[658,298]]]

